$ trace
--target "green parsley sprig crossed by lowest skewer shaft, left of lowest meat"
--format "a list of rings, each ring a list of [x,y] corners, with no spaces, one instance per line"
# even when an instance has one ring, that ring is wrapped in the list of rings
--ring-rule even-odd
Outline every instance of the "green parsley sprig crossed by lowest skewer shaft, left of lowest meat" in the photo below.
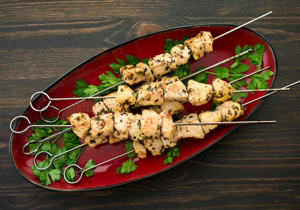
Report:
[[[126,152],[134,150],[133,142],[126,141],[125,148],[127,148]],[[137,154],[135,152],[129,153],[127,155],[129,159],[122,166],[117,168],[116,173],[128,174],[128,173],[134,172],[137,169],[137,165],[132,161],[132,158],[136,155]]]

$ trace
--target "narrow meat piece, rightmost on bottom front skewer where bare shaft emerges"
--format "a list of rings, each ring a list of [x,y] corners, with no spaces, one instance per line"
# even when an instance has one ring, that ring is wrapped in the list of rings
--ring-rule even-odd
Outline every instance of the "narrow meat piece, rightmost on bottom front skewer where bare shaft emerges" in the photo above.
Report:
[[[171,116],[171,112],[172,110],[164,110],[159,114],[159,116],[162,119],[161,136],[167,139],[171,139],[174,136],[176,130]]]

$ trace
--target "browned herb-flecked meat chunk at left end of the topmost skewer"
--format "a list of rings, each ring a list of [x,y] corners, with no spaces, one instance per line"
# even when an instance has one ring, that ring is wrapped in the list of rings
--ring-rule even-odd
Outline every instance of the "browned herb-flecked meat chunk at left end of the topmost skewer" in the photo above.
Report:
[[[151,82],[154,80],[151,69],[144,63],[138,63],[136,66],[123,66],[120,68],[119,75],[128,85],[133,85],[139,82]]]

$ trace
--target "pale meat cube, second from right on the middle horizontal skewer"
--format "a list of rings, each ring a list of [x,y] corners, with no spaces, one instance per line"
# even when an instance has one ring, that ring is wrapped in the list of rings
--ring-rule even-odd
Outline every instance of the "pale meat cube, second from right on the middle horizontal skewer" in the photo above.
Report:
[[[193,106],[206,104],[212,95],[212,86],[189,80],[187,85],[188,100]]]

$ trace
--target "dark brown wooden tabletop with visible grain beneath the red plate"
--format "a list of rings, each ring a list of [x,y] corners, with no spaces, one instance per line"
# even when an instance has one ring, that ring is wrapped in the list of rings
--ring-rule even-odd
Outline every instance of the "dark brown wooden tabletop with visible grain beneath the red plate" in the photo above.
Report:
[[[129,39],[176,26],[242,24],[270,41],[274,87],[298,81],[299,1],[1,1],[0,208],[300,208],[300,91],[275,94],[243,125],[205,152],[164,173],[109,189],[59,193],[20,177],[8,155],[9,123],[75,65]]]

